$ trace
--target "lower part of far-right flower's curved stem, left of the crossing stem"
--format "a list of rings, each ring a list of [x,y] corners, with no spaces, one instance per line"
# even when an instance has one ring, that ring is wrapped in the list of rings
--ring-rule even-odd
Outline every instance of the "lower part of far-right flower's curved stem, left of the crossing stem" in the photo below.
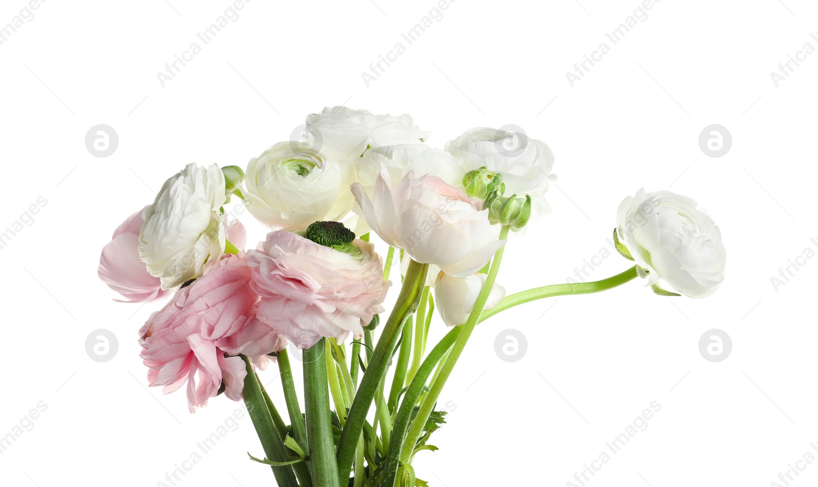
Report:
[[[452,348],[452,345],[454,345],[457,340],[457,336],[460,336],[461,330],[462,327],[452,328],[452,330],[438,342],[438,345],[434,345],[434,348],[429,351],[429,355],[426,356],[423,363],[417,369],[415,377],[412,379],[411,384],[409,384],[405,395],[403,395],[401,407],[398,409],[398,415],[395,417],[395,424],[392,429],[392,443],[389,444],[389,451],[386,453],[386,460],[384,461],[384,468],[386,469],[386,471],[384,471],[384,487],[393,487],[399,467],[398,458],[400,457],[403,439],[406,436],[407,428],[411,421],[411,413],[415,408],[417,399],[420,397],[420,393],[423,392],[426,380],[434,370],[435,365],[437,365],[437,363],[446,356],[447,351]]]

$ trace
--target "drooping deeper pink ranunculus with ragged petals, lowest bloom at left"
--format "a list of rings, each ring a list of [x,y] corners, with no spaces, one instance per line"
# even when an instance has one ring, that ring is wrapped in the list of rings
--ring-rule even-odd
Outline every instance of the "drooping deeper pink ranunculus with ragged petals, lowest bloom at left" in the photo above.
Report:
[[[250,273],[243,253],[223,256],[139,331],[149,384],[168,394],[187,381],[191,412],[218,395],[222,383],[228,398],[240,400],[247,373],[236,355],[259,356],[286,345],[255,318],[258,295],[249,287]]]

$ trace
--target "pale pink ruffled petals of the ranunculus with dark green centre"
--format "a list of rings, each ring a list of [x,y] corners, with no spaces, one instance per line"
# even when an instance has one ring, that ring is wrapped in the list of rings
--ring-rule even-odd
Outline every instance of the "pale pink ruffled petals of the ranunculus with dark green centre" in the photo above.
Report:
[[[353,240],[335,250],[283,230],[247,255],[253,289],[261,296],[256,316],[301,349],[322,337],[345,340],[363,327],[381,306],[392,285],[383,279],[375,247]]]

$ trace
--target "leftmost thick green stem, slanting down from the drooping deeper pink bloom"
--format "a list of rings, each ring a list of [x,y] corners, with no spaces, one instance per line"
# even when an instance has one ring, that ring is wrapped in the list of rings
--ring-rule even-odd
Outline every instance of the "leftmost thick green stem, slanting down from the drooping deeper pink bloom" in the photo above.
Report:
[[[247,405],[247,411],[258,434],[258,440],[261,440],[264,455],[273,462],[286,462],[287,451],[284,449],[284,443],[281,442],[281,437],[272,422],[272,416],[267,408],[267,403],[264,401],[264,395],[261,386],[258,384],[253,365],[250,363],[249,358],[244,355],[241,358],[244,359],[245,368],[247,369],[245,388],[241,392],[241,397]],[[273,475],[276,476],[276,482],[281,487],[299,487],[292,467],[270,468],[272,468]]]

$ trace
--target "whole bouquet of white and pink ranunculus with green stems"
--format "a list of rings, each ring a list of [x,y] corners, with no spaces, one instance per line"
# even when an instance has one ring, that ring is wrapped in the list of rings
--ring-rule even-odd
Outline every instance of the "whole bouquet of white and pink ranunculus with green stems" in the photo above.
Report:
[[[139,330],[148,383],[186,387],[191,412],[222,393],[243,400],[263,446],[250,458],[278,485],[426,485],[412,460],[437,449],[443,386],[475,325],[503,310],[636,277],[658,295],[700,298],[724,278],[708,214],[688,197],[639,190],[613,231],[631,268],[506,295],[503,251],[550,213],[551,149],[519,130],[470,129],[443,150],[427,136],[408,115],[326,108],[308,115],[301,140],[245,170],[182,168],[102,250],[99,275],[125,301],[164,300]],[[251,250],[225,214],[231,198],[271,230]],[[401,275],[390,281],[393,267]],[[433,344],[435,310],[452,328]],[[300,391],[290,342],[303,354]],[[271,362],[285,404],[258,380]]]

